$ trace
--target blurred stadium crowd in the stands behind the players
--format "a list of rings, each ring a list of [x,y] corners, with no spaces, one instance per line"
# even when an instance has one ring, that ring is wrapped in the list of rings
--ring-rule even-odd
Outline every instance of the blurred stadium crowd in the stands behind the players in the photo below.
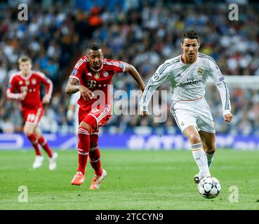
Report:
[[[74,121],[67,118],[69,95],[65,94],[65,85],[75,62],[84,55],[91,40],[102,45],[105,57],[133,64],[146,83],[159,64],[180,55],[182,33],[195,29],[201,36],[200,52],[211,55],[224,75],[259,76],[258,5],[242,4],[239,20],[231,21],[225,2],[217,8],[202,1],[183,5],[168,1],[114,0],[109,1],[109,7],[96,6],[92,1],[85,1],[87,6],[79,1],[55,1],[52,5],[37,2],[40,5],[29,4],[27,21],[18,20],[17,8],[0,5],[0,132],[22,131],[20,105],[6,99],[8,80],[18,71],[21,55],[32,57],[34,70],[44,72],[55,86],[51,104],[45,106],[41,120],[45,132],[74,132]],[[127,100],[137,86],[126,74],[115,76],[113,84],[114,91],[128,93],[121,95],[122,100]],[[159,90],[168,90],[168,84]],[[208,102],[218,132],[259,134],[259,90],[230,87],[234,114],[230,125],[224,123],[215,87],[209,87],[209,92]],[[121,99],[114,102],[118,100]],[[115,114],[103,131],[131,132],[135,127],[147,126],[147,129],[157,127],[152,130],[158,132],[179,132],[170,112],[170,94],[163,100],[166,122],[154,123],[154,116]],[[131,106],[137,108],[138,104]],[[156,105],[155,109],[159,111],[160,107]],[[117,110],[114,106],[114,111]]]

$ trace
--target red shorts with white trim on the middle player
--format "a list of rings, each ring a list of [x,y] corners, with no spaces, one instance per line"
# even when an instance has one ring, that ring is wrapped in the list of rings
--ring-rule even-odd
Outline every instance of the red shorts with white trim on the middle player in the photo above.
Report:
[[[90,126],[91,134],[98,134],[99,127],[106,125],[108,120],[112,117],[112,105],[106,105],[105,109],[92,109],[85,111],[79,108],[79,124],[81,122],[87,123]]]

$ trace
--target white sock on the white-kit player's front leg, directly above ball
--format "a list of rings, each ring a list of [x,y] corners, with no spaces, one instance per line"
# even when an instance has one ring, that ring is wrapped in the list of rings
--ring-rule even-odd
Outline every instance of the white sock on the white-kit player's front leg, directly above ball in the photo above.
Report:
[[[199,167],[199,174],[201,174],[202,177],[211,176],[208,169],[208,160],[201,143],[192,145],[192,155]],[[199,178],[201,176],[199,175]]]

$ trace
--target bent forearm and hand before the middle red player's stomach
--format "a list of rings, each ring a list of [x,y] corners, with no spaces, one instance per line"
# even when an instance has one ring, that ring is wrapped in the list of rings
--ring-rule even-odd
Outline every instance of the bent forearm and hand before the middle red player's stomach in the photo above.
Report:
[[[95,96],[93,92],[89,90],[87,87],[85,87],[84,85],[77,85],[77,84],[78,84],[78,80],[76,78],[69,78],[67,82],[67,87],[65,90],[66,93],[73,94],[79,91],[81,96],[86,100],[92,99],[92,97]]]

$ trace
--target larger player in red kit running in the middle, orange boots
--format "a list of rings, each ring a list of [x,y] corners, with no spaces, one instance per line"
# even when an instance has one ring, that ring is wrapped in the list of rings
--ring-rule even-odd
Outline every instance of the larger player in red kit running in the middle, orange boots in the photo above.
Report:
[[[66,87],[68,94],[80,92],[78,155],[79,167],[72,184],[80,186],[85,180],[86,162],[89,156],[95,176],[90,190],[100,188],[107,172],[102,169],[98,148],[98,130],[111,118],[112,105],[109,102],[109,89],[115,73],[128,72],[137,81],[140,89],[145,89],[140,74],[134,66],[126,62],[106,59],[98,43],[91,43],[87,55],[81,57],[69,76]]]

